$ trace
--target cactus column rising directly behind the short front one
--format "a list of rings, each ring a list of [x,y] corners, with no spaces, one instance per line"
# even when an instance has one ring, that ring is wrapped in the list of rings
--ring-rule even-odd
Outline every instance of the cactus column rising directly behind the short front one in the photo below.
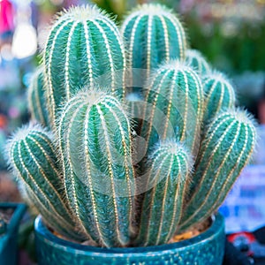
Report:
[[[193,69],[178,60],[163,64],[144,89],[146,107],[140,136],[148,152],[158,140],[176,139],[186,143],[193,155],[199,148],[203,91]]]

